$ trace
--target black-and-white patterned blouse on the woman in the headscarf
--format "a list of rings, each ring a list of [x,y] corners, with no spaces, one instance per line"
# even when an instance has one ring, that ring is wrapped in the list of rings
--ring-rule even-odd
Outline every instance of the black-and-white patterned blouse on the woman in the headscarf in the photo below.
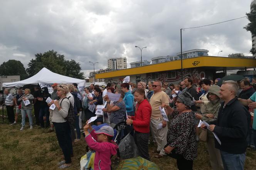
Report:
[[[175,147],[177,153],[183,155],[186,160],[197,158],[193,111],[181,114],[177,110],[173,111],[170,129],[167,133],[167,143],[170,147]]]

